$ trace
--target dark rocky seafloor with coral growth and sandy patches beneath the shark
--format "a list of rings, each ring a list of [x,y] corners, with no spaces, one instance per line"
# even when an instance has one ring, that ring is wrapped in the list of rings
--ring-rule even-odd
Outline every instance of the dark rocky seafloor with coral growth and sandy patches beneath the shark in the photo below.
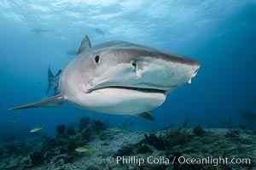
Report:
[[[56,132],[54,138],[39,133],[2,141],[0,169],[256,169],[255,130],[195,126],[135,132],[84,116],[79,125],[60,125]],[[76,151],[81,146],[90,150]]]

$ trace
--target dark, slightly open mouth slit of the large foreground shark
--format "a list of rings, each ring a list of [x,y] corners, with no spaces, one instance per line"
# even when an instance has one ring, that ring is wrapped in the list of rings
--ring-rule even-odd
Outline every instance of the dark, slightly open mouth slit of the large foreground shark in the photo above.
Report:
[[[92,88],[88,91],[88,93],[91,93],[93,91],[104,89],[104,88],[119,88],[119,89],[125,89],[125,90],[134,90],[144,93],[157,93],[157,94],[166,94],[167,91],[163,89],[157,89],[157,88],[135,88],[135,87],[125,87],[125,86],[108,86],[108,87],[102,87],[102,88]]]

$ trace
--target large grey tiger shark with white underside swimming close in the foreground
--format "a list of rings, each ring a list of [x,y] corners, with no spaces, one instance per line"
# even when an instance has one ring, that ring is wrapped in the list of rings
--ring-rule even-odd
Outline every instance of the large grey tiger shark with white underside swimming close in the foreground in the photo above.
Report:
[[[154,120],[149,111],[162,105],[166,94],[190,83],[199,68],[195,59],[137,43],[113,41],[91,47],[85,36],[63,71],[54,76],[49,69],[54,96],[9,110],[69,103],[88,111]]]

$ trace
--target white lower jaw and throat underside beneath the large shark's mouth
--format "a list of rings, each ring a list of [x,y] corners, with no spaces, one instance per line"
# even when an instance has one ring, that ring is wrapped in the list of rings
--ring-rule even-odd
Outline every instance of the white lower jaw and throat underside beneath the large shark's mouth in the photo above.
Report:
[[[90,94],[80,93],[69,97],[73,105],[85,110],[120,115],[136,115],[151,111],[162,105],[165,99],[166,94],[123,88],[103,88]]]

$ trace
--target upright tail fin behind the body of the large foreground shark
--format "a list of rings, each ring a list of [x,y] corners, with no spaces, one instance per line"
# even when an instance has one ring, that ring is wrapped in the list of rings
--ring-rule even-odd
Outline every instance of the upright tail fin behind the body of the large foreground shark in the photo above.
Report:
[[[48,67],[48,88],[46,90],[45,94],[49,93],[49,89],[52,87],[52,85],[55,85],[55,94],[59,94],[59,89],[58,89],[58,85],[59,85],[59,78],[61,75],[61,70],[58,71],[58,73],[54,76],[52,71],[50,70],[50,65]]]

